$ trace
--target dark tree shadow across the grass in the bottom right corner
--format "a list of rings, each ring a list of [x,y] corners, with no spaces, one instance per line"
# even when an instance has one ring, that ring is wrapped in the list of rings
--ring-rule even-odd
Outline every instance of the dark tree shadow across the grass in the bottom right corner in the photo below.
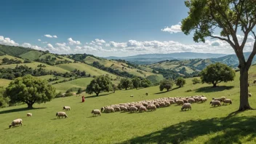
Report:
[[[255,116],[191,120],[122,143],[186,143],[204,135],[207,135],[207,139],[202,139],[206,140],[204,143],[242,143],[244,138],[246,141],[255,138],[255,121]]]

